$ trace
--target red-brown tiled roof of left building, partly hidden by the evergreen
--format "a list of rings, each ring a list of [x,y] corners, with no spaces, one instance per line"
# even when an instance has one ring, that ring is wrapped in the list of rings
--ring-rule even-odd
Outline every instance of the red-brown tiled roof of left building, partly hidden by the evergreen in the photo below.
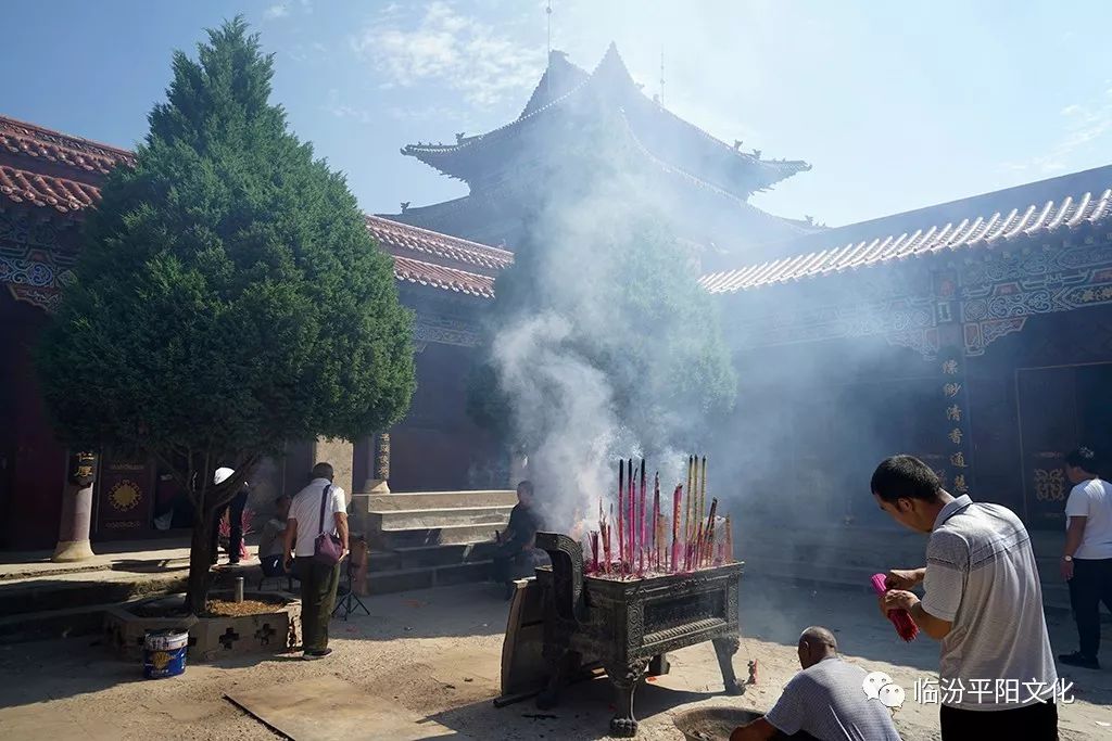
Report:
[[[135,162],[127,150],[2,116],[0,144],[0,210],[7,200],[80,217],[100,201],[105,174]],[[506,250],[427,229],[374,216],[366,222],[398,281],[489,299],[494,277],[514,261]]]

